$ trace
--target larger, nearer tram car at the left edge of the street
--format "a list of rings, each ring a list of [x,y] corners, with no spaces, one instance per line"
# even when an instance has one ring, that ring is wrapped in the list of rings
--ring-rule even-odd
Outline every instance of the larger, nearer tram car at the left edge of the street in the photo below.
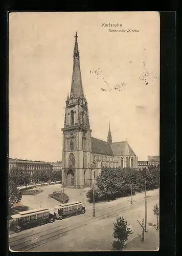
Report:
[[[50,213],[49,208],[39,208],[27,211],[20,211],[18,214],[10,217],[10,228],[15,232],[22,229],[31,228],[37,225],[54,222],[54,215]]]

